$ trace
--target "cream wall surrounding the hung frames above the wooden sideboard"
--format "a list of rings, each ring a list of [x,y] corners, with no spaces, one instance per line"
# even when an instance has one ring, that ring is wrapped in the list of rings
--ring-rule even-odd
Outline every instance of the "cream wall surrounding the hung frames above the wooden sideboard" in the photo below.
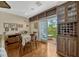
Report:
[[[8,34],[14,34],[18,33],[22,30],[29,31],[29,27],[26,27],[26,25],[29,25],[29,21],[25,17],[0,12],[0,34],[2,35],[4,32],[3,23],[17,23],[17,24],[23,24],[23,28],[19,29],[18,31],[10,31],[7,32]],[[2,39],[2,46],[4,46],[4,39]]]

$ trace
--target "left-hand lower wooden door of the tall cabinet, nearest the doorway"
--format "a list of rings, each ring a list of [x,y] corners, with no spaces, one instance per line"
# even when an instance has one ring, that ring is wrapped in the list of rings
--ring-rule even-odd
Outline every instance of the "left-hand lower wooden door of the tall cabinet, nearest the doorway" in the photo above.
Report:
[[[66,40],[64,37],[59,37],[57,40],[57,52],[59,52],[59,54],[62,54],[63,56],[66,54]]]

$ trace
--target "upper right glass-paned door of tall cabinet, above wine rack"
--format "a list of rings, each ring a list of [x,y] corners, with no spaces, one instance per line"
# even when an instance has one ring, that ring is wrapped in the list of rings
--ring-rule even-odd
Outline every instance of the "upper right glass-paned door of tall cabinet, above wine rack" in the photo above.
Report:
[[[67,20],[68,22],[76,22],[77,21],[77,4],[75,2],[67,3]]]

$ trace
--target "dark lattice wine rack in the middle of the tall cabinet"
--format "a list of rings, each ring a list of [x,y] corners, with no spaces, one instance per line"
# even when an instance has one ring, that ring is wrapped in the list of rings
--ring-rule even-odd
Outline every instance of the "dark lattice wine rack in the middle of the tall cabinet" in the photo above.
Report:
[[[76,22],[60,24],[59,25],[59,35],[77,36],[76,35]]]

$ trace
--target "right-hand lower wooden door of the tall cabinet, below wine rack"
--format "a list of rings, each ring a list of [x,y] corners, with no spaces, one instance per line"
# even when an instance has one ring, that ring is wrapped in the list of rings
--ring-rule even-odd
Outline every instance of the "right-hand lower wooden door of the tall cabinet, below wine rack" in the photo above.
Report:
[[[77,56],[77,50],[76,50],[76,38],[67,38],[66,39],[66,54],[67,56]]]

